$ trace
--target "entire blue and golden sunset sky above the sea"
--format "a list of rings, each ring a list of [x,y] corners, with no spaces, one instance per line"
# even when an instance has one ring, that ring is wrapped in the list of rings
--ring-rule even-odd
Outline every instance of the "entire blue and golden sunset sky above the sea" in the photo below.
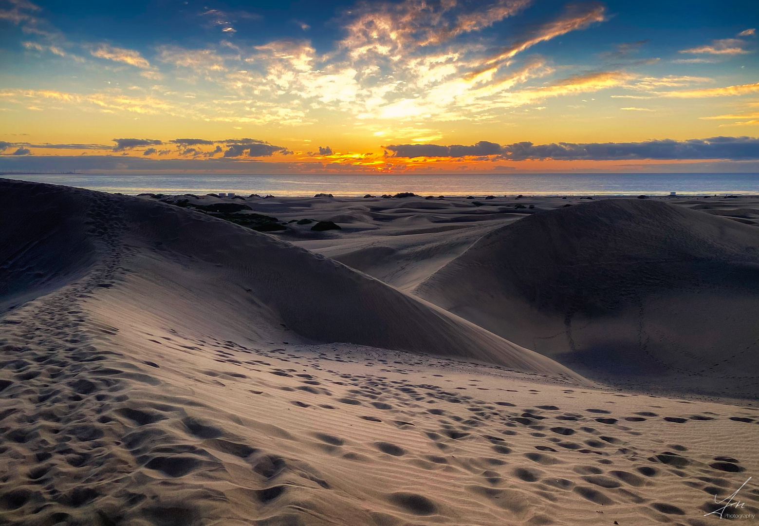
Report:
[[[0,171],[759,172],[747,2],[0,0]]]

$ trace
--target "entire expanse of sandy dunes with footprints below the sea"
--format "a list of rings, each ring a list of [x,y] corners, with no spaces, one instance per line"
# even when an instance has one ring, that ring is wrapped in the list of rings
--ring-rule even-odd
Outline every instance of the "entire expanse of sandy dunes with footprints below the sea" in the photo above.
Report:
[[[0,522],[755,521],[759,197],[397,190],[0,180]]]

